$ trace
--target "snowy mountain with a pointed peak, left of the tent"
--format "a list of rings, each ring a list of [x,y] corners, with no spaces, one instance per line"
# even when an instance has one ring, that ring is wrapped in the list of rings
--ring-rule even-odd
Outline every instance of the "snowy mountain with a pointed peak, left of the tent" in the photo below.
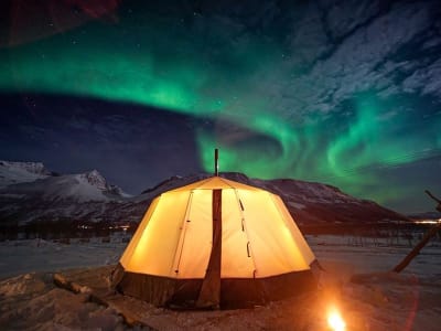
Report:
[[[43,166],[40,168],[44,169]],[[3,173],[4,178],[12,178],[11,173],[21,172],[12,167],[12,171]],[[109,184],[97,170],[63,175],[42,172],[36,173],[33,181],[28,174],[15,178],[20,183],[0,188],[0,222],[3,225],[60,220],[97,222],[130,197],[119,186]]]

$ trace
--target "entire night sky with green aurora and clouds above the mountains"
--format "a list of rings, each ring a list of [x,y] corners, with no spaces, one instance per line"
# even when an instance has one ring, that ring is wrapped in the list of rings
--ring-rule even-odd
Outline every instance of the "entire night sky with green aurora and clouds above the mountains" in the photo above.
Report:
[[[159,3],[155,3],[159,2]],[[439,1],[11,0],[0,159],[129,193],[220,171],[441,195]]]

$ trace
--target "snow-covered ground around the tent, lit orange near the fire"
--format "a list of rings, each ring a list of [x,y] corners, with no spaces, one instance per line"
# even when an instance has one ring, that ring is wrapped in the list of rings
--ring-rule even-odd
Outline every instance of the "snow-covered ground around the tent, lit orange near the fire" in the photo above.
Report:
[[[141,306],[144,317],[155,319],[164,330],[170,325],[184,330],[326,330],[324,302],[335,301],[348,330],[440,330],[439,241],[429,243],[397,275],[386,271],[410,252],[415,242],[332,235],[306,239],[324,268],[320,291],[313,297],[220,312],[176,312]],[[114,265],[126,245],[120,237],[87,243],[71,239],[68,245],[39,239],[0,243],[0,325],[29,330],[127,329],[111,308],[89,302],[87,293],[56,288],[52,281],[54,271]]]

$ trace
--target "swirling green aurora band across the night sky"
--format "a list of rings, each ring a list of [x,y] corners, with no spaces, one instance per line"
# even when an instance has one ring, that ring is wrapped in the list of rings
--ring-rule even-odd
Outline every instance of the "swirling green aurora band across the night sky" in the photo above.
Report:
[[[345,111],[288,116],[297,109],[278,108],[259,79],[304,68],[283,73],[283,47],[275,40],[251,35],[232,46],[222,25],[203,41],[194,35],[200,32],[189,36],[164,19],[151,17],[141,30],[125,18],[118,24],[90,22],[2,49],[0,90],[97,97],[206,118],[215,129],[195,135],[207,171],[218,147],[222,171],[322,181],[379,203],[396,197],[381,172],[440,153],[441,116],[421,119],[409,110],[418,105],[380,98],[375,89],[354,95],[341,105]],[[232,138],[216,124],[246,134]]]

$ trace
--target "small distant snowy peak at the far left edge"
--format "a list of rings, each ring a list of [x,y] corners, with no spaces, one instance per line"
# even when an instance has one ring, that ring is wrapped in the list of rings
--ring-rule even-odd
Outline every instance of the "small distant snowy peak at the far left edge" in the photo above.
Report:
[[[12,162],[0,160],[0,188],[11,184],[33,182],[54,173],[41,162]]]

